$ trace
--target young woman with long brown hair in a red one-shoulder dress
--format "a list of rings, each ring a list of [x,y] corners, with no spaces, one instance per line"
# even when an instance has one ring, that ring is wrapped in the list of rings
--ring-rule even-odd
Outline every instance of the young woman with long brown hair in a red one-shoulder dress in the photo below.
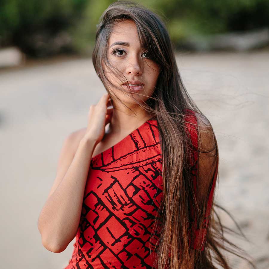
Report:
[[[92,59],[107,94],[65,139],[39,215],[43,245],[59,253],[76,237],[70,269],[208,269],[214,255],[230,268],[212,214],[217,141],[164,23],[117,1],[101,16]]]

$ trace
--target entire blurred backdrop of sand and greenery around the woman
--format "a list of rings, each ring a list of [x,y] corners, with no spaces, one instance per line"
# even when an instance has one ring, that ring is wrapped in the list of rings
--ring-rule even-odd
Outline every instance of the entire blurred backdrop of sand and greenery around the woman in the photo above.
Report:
[[[7,268],[59,269],[71,259],[75,241],[62,253],[46,250],[37,220],[63,140],[86,127],[90,105],[105,93],[91,53],[99,17],[112,2],[0,1],[0,255]],[[227,238],[259,269],[268,269],[269,1],[143,5],[166,22],[183,82],[214,128],[220,152],[216,201],[251,242]],[[227,257],[232,268],[251,268]]]

